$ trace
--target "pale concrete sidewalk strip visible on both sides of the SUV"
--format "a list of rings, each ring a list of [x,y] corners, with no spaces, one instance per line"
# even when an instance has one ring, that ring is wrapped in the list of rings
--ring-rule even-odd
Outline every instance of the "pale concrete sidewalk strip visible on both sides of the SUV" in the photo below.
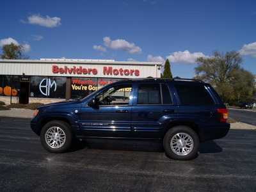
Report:
[[[29,109],[11,109],[6,111],[0,111],[0,116],[33,118],[34,112],[35,112],[34,110],[29,110]],[[255,129],[256,130],[256,126],[239,122],[239,123],[230,124],[230,129]]]

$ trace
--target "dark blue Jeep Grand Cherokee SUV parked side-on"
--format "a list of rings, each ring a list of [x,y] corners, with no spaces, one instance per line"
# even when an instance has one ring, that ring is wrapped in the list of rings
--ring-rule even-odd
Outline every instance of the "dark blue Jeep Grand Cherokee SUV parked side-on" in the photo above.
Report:
[[[163,140],[166,155],[188,160],[201,141],[223,138],[227,109],[210,84],[195,79],[125,79],[84,99],[36,109],[31,129],[49,152],[75,138]]]

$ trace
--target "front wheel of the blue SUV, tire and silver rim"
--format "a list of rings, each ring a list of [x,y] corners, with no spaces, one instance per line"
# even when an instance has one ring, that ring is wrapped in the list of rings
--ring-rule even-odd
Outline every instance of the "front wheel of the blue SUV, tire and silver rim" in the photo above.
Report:
[[[42,128],[40,140],[43,147],[49,152],[61,153],[70,148],[73,134],[69,124],[53,120]]]

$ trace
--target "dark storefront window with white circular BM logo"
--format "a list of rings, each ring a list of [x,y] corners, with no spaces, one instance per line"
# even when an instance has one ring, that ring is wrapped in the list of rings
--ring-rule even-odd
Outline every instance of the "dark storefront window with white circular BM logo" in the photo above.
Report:
[[[65,99],[66,77],[31,77],[29,97]]]

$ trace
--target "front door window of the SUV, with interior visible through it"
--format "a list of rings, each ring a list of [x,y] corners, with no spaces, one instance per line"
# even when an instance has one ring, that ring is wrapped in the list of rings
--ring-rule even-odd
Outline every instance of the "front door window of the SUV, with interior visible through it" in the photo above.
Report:
[[[95,97],[99,106],[128,106],[132,84],[113,86]]]

